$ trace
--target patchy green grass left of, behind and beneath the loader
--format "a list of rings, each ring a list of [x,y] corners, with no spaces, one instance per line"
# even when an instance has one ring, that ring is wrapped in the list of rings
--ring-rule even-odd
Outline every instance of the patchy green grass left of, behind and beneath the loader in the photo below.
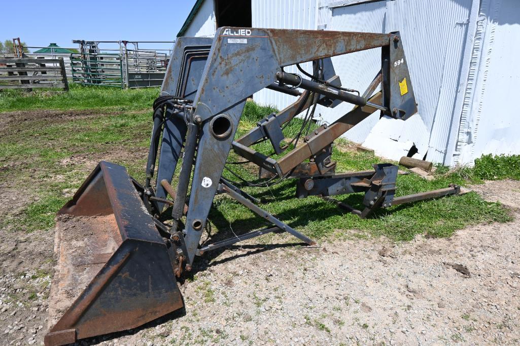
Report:
[[[90,159],[92,162],[110,159],[127,167],[129,174],[138,181],[144,181],[151,130],[150,106],[157,94],[158,89],[118,90],[80,86],[73,86],[69,94],[37,92],[24,96],[20,92],[2,92],[0,110],[3,111],[105,107],[117,107],[117,111],[108,114],[100,112],[88,118],[62,121],[45,118],[10,125],[9,131],[4,131],[0,138],[0,159],[3,160],[0,167],[7,167],[0,169],[0,181],[9,182],[11,187],[20,191],[30,191],[40,199],[30,202],[19,215],[5,216],[0,221],[0,227],[9,225],[25,232],[53,228],[55,213],[67,200],[63,191],[75,191],[90,170],[81,161],[74,165],[63,164],[74,155],[83,155],[86,161]],[[275,111],[247,102],[237,136],[245,134],[259,119]],[[285,136],[294,137],[301,124],[301,119],[295,119],[285,128]],[[256,144],[255,149],[265,154],[272,152],[269,141]],[[338,172],[371,169],[372,164],[381,162],[370,152],[349,149],[345,140],[336,141],[332,158],[337,161]],[[231,153],[229,161],[241,161],[241,158]],[[518,157],[513,156],[485,156],[477,160],[475,168],[450,170],[439,166],[432,181],[414,174],[399,176],[397,195],[445,188],[449,183],[467,185],[481,179],[520,179],[518,162]],[[245,179],[257,179],[256,166],[230,167]],[[224,176],[237,180],[229,171],[225,171]],[[261,199],[262,208],[317,239],[385,235],[401,241],[426,233],[445,237],[467,225],[511,220],[508,210],[498,203],[483,201],[476,193],[381,209],[369,219],[361,220],[357,216],[343,214],[336,206],[318,197],[295,199],[294,180],[282,181],[270,188],[244,190]],[[351,194],[337,196],[337,199],[361,208],[362,197],[362,194]],[[263,218],[223,195],[215,198],[209,220],[213,234],[217,233],[215,240],[218,236],[229,236],[231,228],[239,234],[266,225]],[[287,241],[294,241],[290,235],[284,237]],[[211,300],[211,297],[205,299]]]

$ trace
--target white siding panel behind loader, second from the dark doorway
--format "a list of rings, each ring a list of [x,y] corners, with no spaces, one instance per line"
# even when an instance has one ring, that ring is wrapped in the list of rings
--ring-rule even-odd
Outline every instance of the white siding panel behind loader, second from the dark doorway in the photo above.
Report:
[[[385,12],[385,2],[336,7],[332,9],[327,30],[384,33]],[[381,70],[381,48],[333,57],[332,63],[336,74],[341,77],[342,85],[359,90],[362,94]],[[323,121],[330,124],[353,107],[352,104],[343,102],[334,109],[320,107],[319,111]],[[376,112],[349,130],[345,137],[354,142],[363,142],[378,120],[379,112]]]

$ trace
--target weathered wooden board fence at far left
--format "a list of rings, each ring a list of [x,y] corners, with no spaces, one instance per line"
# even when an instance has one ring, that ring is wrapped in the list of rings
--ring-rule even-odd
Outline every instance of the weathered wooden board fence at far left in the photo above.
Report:
[[[69,90],[63,58],[0,59],[0,89],[34,88]]]

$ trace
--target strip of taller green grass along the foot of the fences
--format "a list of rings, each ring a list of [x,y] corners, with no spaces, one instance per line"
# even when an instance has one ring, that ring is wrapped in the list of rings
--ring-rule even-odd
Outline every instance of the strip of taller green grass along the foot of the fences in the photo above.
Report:
[[[121,90],[111,87],[70,84],[70,92],[36,89],[0,91],[0,112],[34,109],[92,109],[118,107],[123,110],[149,107],[159,88]]]

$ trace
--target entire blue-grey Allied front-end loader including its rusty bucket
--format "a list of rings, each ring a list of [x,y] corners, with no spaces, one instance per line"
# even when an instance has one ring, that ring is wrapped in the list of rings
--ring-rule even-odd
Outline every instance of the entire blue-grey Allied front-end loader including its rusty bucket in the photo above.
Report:
[[[373,48],[381,49],[381,70],[366,91],[342,86],[331,57]],[[313,70],[303,69],[304,62],[312,62]],[[290,65],[300,73],[284,71]],[[236,139],[246,99],[264,88],[296,100]],[[334,108],[342,102],[355,107],[309,131],[318,104]],[[361,218],[376,208],[460,191],[450,185],[395,197],[393,164],[336,173],[331,158],[336,138],[376,111],[396,121],[417,112],[398,32],[220,28],[214,38],[179,37],[153,109],[146,181],[137,182],[120,165],[100,162],[58,212],[48,346],[135,328],[183,308],[177,281],[206,251],[269,232],[289,232],[315,244],[263,210],[242,186],[294,179],[296,197],[318,195]],[[286,139],[282,130],[297,115],[302,128]],[[252,148],[262,141],[272,144],[278,159]],[[259,167],[262,184],[222,177],[231,150]],[[360,192],[362,210],[331,197]],[[201,246],[213,199],[221,193],[270,227]]]

